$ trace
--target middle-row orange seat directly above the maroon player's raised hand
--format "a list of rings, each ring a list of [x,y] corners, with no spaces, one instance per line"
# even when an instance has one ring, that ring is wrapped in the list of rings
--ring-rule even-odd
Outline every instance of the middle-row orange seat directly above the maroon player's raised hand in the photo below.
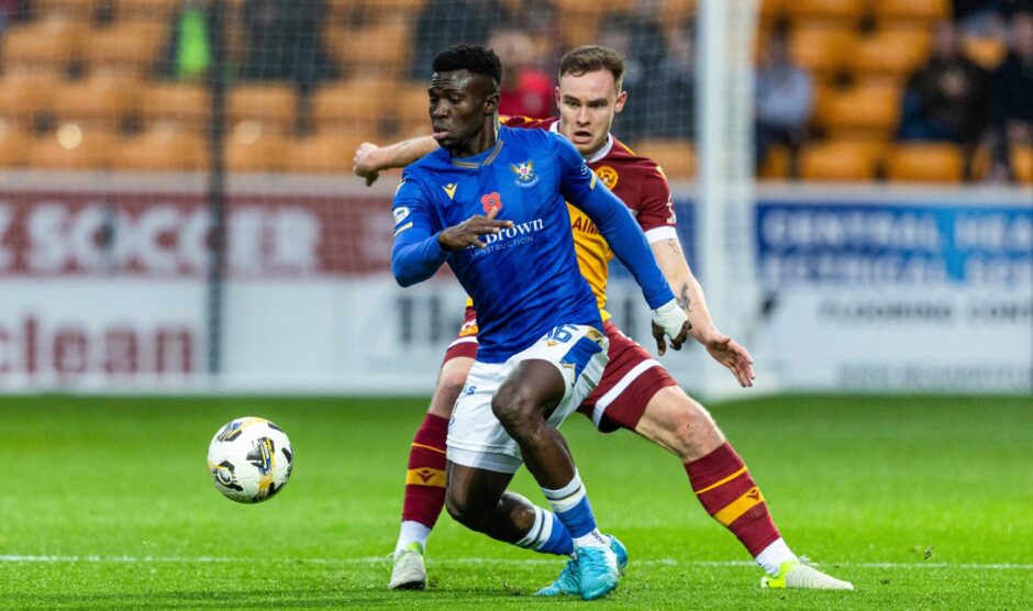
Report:
[[[319,88],[312,99],[316,130],[365,130],[369,138],[378,137],[396,88],[393,80],[363,78]]]

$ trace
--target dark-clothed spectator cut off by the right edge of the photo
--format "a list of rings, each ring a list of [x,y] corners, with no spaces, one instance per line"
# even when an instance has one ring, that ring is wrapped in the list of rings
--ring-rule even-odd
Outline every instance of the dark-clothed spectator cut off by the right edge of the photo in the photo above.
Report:
[[[993,166],[990,180],[1013,178],[1010,147],[1033,146],[1033,11],[1009,21],[1009,52],[990,76]]]

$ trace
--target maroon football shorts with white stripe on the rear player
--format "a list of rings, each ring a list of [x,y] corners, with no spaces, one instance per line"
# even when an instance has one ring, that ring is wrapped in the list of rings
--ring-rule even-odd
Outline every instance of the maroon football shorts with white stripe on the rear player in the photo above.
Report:
[[[596,390],[578,411],[591,419],[603,433],[618,429],[634,431],[654,395],[667,386],[677,386],[667,369],[644,347],[627,337],[610,321],[602,325],[610,348],[610,360]],[[466,309],[466,319],[455,341],[448,344],[442,365],[465,356],[477,358],[477,312]]]

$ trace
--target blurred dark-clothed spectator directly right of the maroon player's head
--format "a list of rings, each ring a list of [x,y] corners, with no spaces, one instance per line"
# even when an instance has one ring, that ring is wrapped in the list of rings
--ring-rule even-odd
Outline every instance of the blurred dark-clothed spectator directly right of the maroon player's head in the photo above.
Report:
[[[636,100],[656,100],[659,67],[664,60],[659,0],[635,0],[632,11],[612,13],[603,21],[600,44],[624,56],[624,90]],[[645,137],[656,104],[631,104],[617,116],[613,133],[624,141]]]

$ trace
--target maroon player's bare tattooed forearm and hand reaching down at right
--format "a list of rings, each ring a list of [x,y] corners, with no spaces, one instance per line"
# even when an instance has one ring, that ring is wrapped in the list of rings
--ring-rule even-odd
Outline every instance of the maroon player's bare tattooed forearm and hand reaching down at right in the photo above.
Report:
[[[707,308],[703,288],[689,268],[685,253],[681,252],[681,244],[673,237],[654,242],[652,246],[656,263],[675,292],[678,306],[689,316],[692,337],[707,348],[714,360],[732,371],[740,386],[744,388],[753,386],[753,380],[756,379],[753,371],[753,357],[746,348],[718,331],[710,316],[710,310]]]

